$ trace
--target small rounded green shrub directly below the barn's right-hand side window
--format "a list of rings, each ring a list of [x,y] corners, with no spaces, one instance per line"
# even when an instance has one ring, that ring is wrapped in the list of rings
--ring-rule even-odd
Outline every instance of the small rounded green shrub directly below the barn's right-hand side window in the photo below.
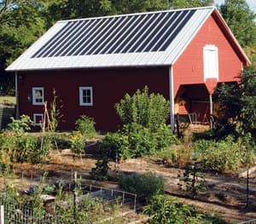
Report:
[[[82,115],[76,121],[76,129],[86,137],[93,137],[96,135],[95,121],[93,118]]]

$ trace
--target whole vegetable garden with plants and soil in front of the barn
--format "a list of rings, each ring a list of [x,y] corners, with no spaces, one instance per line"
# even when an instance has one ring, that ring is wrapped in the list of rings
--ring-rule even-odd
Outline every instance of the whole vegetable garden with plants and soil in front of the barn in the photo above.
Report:
[[[219,91],[224,99],[224,90]],[[224,106],[226,101],[220,102]],[[0,201],[15,208],[8,223],[18,218],[20,223],[234,223],[256,218],[255,173],[249,179],[244,175],[256,157],[248,119],[222,120],[204,133],[191,130],[186,142],[166,124],[169,102],[147,87],[125,95],[115,108],[122,126],[106,135],[99,135],[94,120],[85,115],[73,132],[56,131],[60,112],[55,103],[39,132],[32,132],[27,116],[12,118],[0,135]]]

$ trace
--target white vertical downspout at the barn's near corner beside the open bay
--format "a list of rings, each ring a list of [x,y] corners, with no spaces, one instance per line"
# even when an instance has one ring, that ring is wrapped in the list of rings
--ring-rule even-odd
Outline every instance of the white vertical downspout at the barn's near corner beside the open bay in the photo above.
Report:
[[[170,97],[170,124],[172,131],[175,129],[175,112],[174,112],[174,91],[173,91],[173,67],[169,67],[169,97]]]

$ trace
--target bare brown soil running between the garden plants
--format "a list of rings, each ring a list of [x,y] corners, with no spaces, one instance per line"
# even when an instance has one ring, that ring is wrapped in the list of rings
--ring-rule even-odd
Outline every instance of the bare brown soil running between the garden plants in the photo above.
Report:
[[[20,190],[25,190],[32,185],[38,184],[40,177],[48,173],[47,181],[56,180],[71,181],[74,171],[81,175],[84,182],[100,187],[118,188],[116,172],[154,172],[166,179],[166,194],[176,196],[184,204],[194,205],[198,210],[218,214],[225,221],[247,221],[256,219],[256,178],[255,173],[250,176],[249,207],[246,205],[246,179],[238,175],[206,174],[207,190],[201,192],[196,198],[180,190],[178,175],[183,169],[166,167],[157,158],[128,159],[121,164],[111,163],[109,172],[110,180],[93,181],[90,179],[90,169],[95,166],[96,155],[86,154],[83,158],[73,157],[71,152],[51,152],[49,161],[44,164],[15,164],[14,175],[8,178],[0,178],[0,190],[6,183],[14,184]],[[183,184],[183,183],[182,183]]]

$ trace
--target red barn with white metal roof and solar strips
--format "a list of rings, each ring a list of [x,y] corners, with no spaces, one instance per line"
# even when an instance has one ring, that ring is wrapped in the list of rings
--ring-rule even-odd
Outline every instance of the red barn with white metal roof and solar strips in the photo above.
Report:
[[[214,7],[59,21],[7,68],[15,72],[17,115],[42,120],[53,89],[60,128],[86,114],[97,129],[116,129],[114,104],[148,85],[176,113],[199,121],[212,112],[218,83],[236,82],[250,64]]]

